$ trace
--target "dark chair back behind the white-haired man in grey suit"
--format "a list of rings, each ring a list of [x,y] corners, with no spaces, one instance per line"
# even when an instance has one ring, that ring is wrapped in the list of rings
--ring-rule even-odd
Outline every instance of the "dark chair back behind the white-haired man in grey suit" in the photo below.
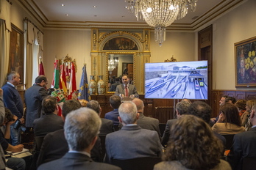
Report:
[[[143,157],[128,160],[113,159],[113,165],[122,170],[153,170],[154,165],[161,162],[159,157]]]

